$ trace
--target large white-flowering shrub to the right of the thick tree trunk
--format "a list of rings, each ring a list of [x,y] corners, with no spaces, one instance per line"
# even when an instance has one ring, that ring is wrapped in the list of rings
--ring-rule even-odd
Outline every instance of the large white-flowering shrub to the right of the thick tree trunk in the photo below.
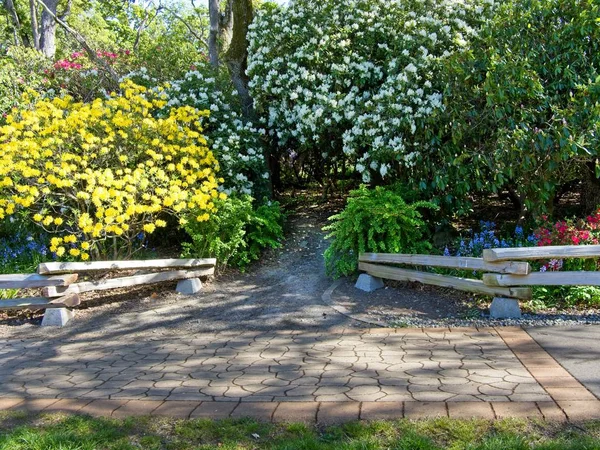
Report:
[[[365,182],[434,150],[441,62],[468,49],[493,0],[292,0],[249,34],[255,106],[281,148],[347,160]],[[432,125],[433,124],[433,125]]]

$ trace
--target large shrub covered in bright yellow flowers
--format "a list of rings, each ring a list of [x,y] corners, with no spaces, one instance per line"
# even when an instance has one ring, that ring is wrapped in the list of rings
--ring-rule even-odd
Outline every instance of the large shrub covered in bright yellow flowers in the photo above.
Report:
[[[121,89],[91,103],[29,98],[0,127],[0,220],[25,211],[59,257],[129,257],[167,214],[193,209],[206,221],[224,196],[202,136],[208,112],[182,106],[157,118],[160,94],[131,81]]]

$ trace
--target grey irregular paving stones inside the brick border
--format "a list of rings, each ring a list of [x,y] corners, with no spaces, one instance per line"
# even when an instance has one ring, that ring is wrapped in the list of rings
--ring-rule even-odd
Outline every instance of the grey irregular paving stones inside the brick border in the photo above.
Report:
[[[548,401],[493,331],[225,332],[4,341],[2,395],[211,401]]]

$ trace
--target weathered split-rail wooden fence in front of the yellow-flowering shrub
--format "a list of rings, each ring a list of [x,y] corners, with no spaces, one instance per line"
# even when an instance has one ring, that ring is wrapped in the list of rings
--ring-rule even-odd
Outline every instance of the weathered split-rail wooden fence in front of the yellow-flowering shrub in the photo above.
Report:
[[[41,297],[0,300],[0,309],[46,309],[77,306],[79,294],[213,275],[216,259],[50,262],[37,274],[0,275],[0,289],[42,289]],[[80,273],[138,270],[149,273],[77,282]]]

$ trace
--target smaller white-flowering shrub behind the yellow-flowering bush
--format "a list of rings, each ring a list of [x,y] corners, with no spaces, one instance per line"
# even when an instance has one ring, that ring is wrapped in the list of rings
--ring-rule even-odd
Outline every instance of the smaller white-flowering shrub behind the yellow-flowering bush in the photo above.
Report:
[[[165,91],[168,107],[194,106],[209,110],[203,135],[221,165],[226,193],[236,192],[262,198],[269,178],[265,162],[266,131],[245,120],[237,94],[226,75],[197,65]]]

